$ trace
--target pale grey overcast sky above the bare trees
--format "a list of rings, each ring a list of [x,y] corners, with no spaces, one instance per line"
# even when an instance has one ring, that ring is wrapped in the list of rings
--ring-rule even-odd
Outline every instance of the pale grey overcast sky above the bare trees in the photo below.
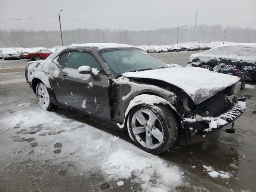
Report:
[[[62,16],[110,28],[150,30],[195,24],[256,29],[256,0],[0,0],[0,20]],[[95,28],[61,18],[62,29]],[[0,21],[1,29],[59,30],[58,17]]]

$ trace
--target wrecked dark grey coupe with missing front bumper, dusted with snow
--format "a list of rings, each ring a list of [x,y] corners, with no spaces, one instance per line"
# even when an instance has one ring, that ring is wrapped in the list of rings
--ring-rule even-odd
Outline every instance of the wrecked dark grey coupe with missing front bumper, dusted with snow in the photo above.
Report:
[[[152,154],[168,150],[182,130],[205,136],[245,110],[244,99],[226,97],[238,92],[238,77],[167,65],[124,44],[60,48],[29,62],[25,76],[43,110],[62,106],[116,122]]]

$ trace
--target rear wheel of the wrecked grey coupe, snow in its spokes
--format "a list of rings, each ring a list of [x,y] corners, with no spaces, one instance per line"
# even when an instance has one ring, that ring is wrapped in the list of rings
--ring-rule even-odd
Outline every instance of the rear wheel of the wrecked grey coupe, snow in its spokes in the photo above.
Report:
[[[49,92],[48,92],[46,86],[42,82],[39,82],[36,85],[36,96],[38,99],[38,104],[41,109],[46,110],[46,111],[50,111],[50,110],[54,109],[54,104],[52,103],[52,101],[50,99]]]

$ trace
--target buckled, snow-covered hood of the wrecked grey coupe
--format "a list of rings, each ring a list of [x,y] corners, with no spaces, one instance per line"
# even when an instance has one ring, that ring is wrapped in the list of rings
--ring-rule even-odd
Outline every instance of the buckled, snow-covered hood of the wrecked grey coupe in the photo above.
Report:
[[[238,82],[240,78],[196,67],[170,65],[168,68],[126,72],[127,78],[162,80],[184,90],[197,105]]]

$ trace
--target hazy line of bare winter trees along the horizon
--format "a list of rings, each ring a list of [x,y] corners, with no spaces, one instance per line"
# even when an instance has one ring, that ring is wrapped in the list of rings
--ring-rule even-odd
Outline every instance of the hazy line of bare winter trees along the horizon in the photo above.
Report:
[[[222,25],[180,26],[175,28],[160,28],[147,31],[110,30],[110,29],[73,29],[63,30],[64,46],[73,43],[110,42],[132,45],[163,45],[195,42],[196,44],[223,41],[256,43],[256,30]],[[60,31],[34,31],[24,29],[0,29],[0,47],[52,47],[61,46]]]

